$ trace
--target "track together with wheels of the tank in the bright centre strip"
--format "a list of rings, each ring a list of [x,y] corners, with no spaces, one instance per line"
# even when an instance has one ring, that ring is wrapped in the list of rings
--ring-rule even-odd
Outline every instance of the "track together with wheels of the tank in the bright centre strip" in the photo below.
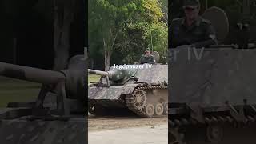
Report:
[[[157,103],[151,104],[146,101],[147,97],[146,97],[145,90],[167,89],[167,87],[168,86],[160,86],[160,85],[138,86],[134,89],[134,92],[132,94],[126,95],[126,106],[128,107],[129,110],[133,111],[135,114],[138,114],[138,116],[142,118],[155,118],[155,117],[165,116],[167,115],[167,112],[165,110],[168,110],[168,108],[165,108],[165,106],[167,106],[168,102],[160,103],[160,107],[158,109],[160,110],[160,114],[158,113],[157,115],[155,112],[155,106],[157,105]],[[140,94],[140,97],[137,97],[136,94]],[[136,102],[136,98],[138,98],[137,102]]]

